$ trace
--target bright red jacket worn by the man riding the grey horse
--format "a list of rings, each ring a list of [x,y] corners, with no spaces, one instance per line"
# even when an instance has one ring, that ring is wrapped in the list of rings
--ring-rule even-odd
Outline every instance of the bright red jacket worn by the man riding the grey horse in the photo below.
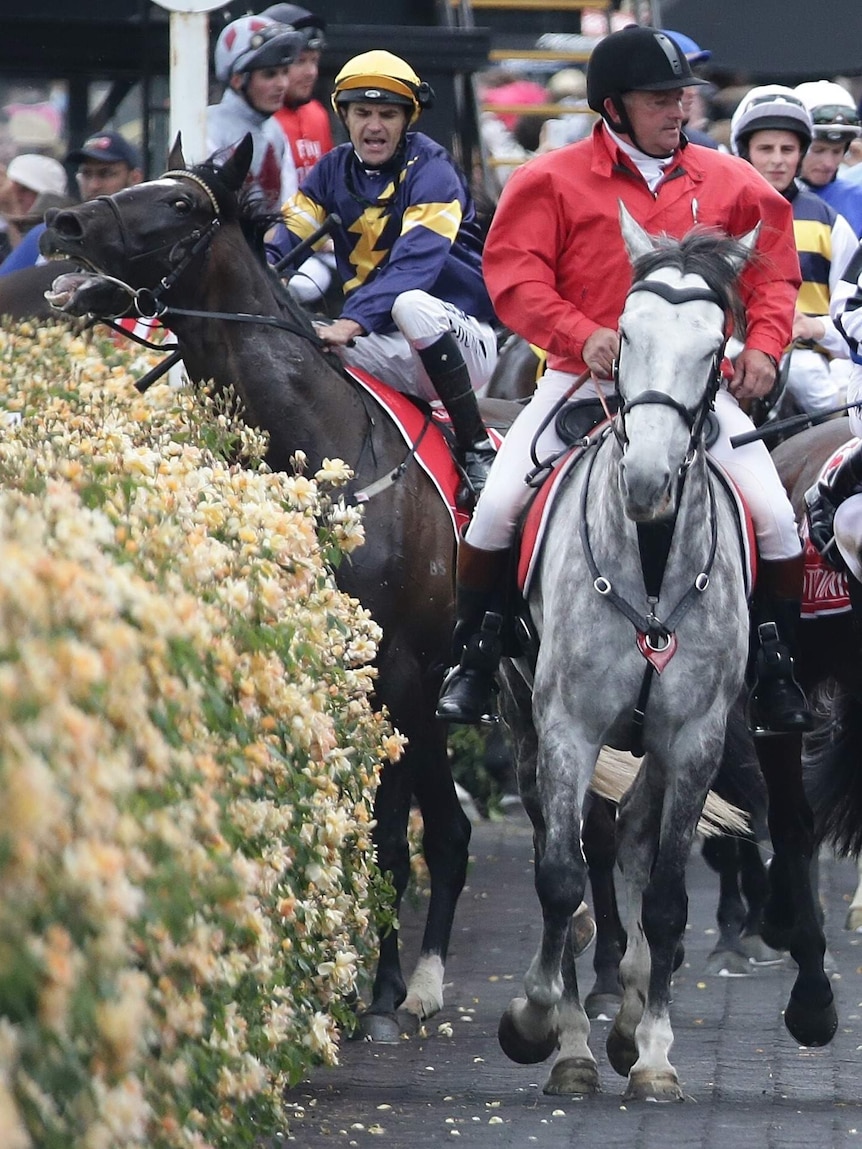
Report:
[[[740,278],[746,347],[778,360],[791,339],[801,283],[793,211],[742,160],[690,144],[653,193],[597,124],[590,138],[538,156],[503,188],[483,270],[502,322],[574,375],[598,327],[616,330],[631,284],[619,230],[622,200],[651,234],[682,238],[694,224],[742,236],[762,221],[761,260]]]

